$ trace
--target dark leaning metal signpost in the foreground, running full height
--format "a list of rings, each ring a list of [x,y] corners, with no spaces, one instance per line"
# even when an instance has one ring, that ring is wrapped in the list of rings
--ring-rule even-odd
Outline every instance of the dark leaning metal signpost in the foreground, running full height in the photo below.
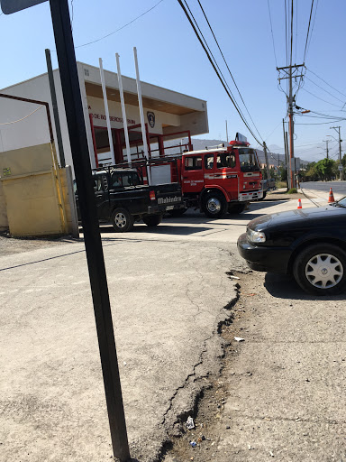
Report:
[[[87,155],[87,131],[80,96],[68,0],[50,0],[50,11],[68,119],[68,134],[76,173],[113,451],[114,457],[125,462],[130,459],[130,450],[123,411],[104,254],[97,221],[90,158]]]

